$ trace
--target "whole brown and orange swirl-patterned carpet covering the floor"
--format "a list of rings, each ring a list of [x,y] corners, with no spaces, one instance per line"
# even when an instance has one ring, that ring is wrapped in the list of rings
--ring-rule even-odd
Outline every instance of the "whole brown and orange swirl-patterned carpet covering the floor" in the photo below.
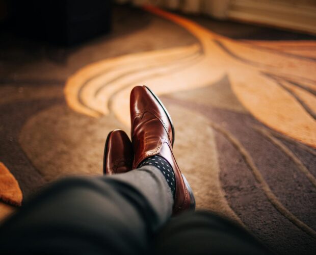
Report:
[[[280,254],[316,250],[316,38],[151,7],[73,48],[0,42],[0,216],[47,182],[99,175],[145,84],[175,124],[197,207]],[[23,198],[22,198],[23,197]]]

